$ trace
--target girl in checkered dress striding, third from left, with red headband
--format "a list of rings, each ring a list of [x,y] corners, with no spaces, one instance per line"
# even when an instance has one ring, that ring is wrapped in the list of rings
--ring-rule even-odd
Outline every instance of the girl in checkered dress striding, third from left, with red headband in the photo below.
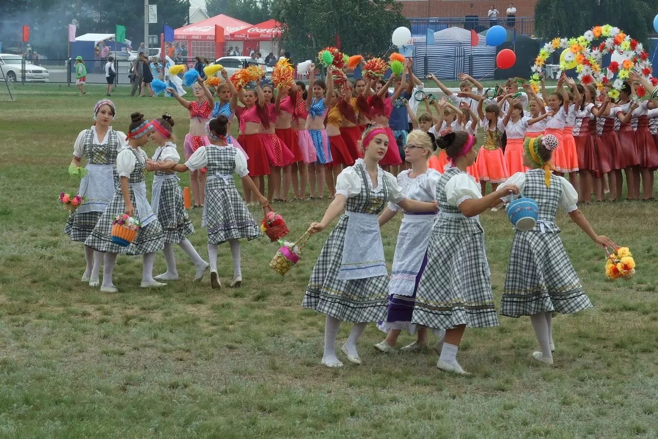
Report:
[[[151,124],[155,128],[153,140],[158,144],[151,159],[153,163],[168,161],[178,163],[180,155],[176,151],[176,144],[171,142],[174,140],[172,134],[174,119],[170,115],[163,115],[161,119],[153,119]],[[210,265],[201,259],[187,238],[194,233],[194,226],[185,210],[183,191],[178,185],[179,180],[180,178],[172,170],[156,170],[153,178],[151,207],[164,230],[164,260],[166,261],[166,272],[155,276],[155,280],[178,280],[176,257],[174,257],[174,244],[178,244],[192,259],[197,271],[194,280],[199,281]]]

